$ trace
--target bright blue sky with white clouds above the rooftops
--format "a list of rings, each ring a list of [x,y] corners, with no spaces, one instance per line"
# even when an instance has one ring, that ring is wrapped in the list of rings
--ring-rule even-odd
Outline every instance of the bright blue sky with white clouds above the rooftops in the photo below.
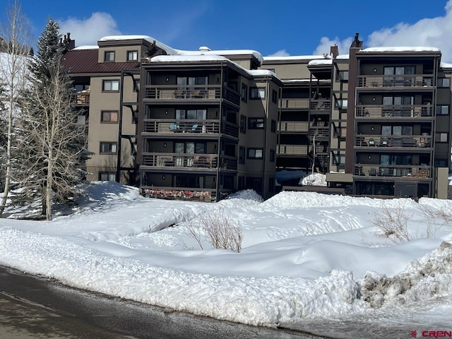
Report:
[[[355,32],[365,47],[434,46],[452,62],[452,0],[117,1],[22,0],[40,35],[59,21],[77,45],[105,35],[150,35],[176,49],[256,49],[271,54],[347,53]],[[5,8],[0,8],[4,11]]]

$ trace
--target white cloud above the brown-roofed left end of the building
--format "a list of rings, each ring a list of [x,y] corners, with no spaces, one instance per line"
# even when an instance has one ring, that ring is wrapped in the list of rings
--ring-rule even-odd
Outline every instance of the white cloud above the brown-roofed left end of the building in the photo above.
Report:
[[[109,13],[95,12],[90,18],[67,18],[59,20],[60,32],[71,32],[71,38],[77,46],[95,45],[97,40],[106,35],[121,35],[117,23]]]

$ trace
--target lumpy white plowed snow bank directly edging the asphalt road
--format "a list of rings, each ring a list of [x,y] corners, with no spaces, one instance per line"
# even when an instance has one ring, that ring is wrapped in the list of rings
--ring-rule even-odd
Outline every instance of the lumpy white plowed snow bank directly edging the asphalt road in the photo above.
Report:
[[[317,280],[219,277],[150,266],[100,254],[61,239],[0,230],[0,263],[102,292],[178,311],[260,326],[345,314],[358,289],[351,273],[333,270]],[[162,292],[165,290],[165,292]]]

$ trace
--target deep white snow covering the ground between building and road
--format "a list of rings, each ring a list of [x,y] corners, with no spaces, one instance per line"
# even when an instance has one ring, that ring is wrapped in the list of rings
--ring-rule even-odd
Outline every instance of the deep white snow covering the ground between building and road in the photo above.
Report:
[[[252,325],[391,314],[452,331],[451,201],[242,191],[196,203],[96,182],[78,203],[52,222],[0,220],[0,264]],[[198,228],[212,215],[241,227],[240,253],[212,249]]]

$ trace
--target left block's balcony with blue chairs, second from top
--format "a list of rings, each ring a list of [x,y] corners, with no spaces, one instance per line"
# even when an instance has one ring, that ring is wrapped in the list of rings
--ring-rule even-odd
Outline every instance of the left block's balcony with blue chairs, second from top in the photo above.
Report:
[[[220,133],[218,119],[206,120],[175,120],[175,119],[143,119],[143,133],[172,134],[174,133]],[[227,121],[221,125],[221,133],[238,138],[239,126]]]

